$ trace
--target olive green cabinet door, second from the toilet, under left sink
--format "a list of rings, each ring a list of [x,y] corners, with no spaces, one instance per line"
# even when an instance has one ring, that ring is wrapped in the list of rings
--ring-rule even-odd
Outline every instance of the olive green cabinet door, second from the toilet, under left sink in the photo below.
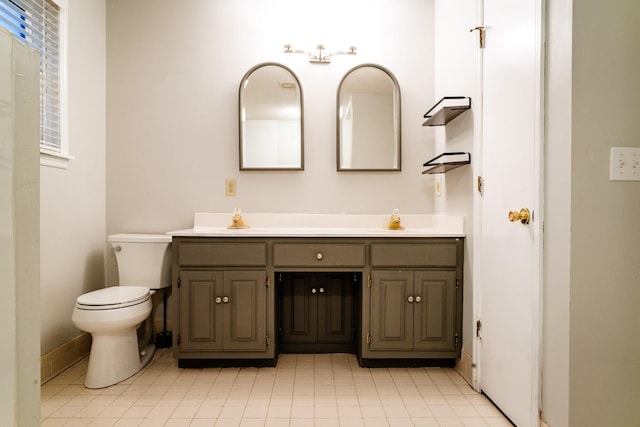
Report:
[[[266,351],[267,287],[264,271],[225,271],[224,351]]]

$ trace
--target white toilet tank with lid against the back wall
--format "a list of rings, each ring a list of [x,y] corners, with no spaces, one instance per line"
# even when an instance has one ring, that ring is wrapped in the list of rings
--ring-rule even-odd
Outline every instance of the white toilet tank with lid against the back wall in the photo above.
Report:
[[[150,289],[171,285],[171,236],[165,234],[112,234],[120,286]]]

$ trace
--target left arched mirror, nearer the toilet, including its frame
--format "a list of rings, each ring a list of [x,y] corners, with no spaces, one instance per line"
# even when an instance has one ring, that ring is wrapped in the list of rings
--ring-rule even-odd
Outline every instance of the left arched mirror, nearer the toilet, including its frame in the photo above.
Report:
[[[302,170],[302,89],[275,63],[251,68],[240,82],[240,170]]]

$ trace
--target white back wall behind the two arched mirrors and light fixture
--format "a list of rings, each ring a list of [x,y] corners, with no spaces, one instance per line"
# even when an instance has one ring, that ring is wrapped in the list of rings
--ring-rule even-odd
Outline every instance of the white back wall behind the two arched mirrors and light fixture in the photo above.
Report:
[[[433,212],[420,174],[433,135],[420,124],[433,100],[433,11],[424,0],[264,2],[108,1],[107,218],[111,232],[192,226],[195,211]],[[140,17],[144,16],[144,25]],[[358,47],[330,65],[283,45]],[[238,171],[238,86],[266,61],[301,82],[305,170]],[[336,172],[336,90],[353,66],[387,67],[402,91],[403,170]],[[424,159],[424,160],[423,160]],[[237,179],[237,197],[224,181]]]

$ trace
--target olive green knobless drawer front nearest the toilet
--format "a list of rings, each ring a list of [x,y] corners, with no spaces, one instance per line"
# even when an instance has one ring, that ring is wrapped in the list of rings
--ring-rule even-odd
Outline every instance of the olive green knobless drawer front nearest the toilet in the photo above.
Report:
[[[264,267],[264,242],[183,242],[178,246],[178,265],[213,267]]]

